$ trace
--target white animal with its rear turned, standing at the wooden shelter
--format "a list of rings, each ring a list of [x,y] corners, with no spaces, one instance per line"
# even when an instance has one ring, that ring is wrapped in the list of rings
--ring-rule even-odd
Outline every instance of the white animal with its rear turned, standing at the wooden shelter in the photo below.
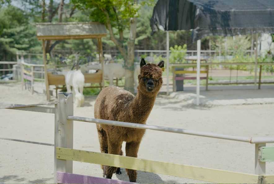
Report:
[[[80,70],[70,70],[63,73],[65,75],[65,82],[67,92],[71,92],[71,86],[73,88],[75,105],[81,107],[84,105],[85,97],[83,95],[83,89],[85,84],[85,77]]]

